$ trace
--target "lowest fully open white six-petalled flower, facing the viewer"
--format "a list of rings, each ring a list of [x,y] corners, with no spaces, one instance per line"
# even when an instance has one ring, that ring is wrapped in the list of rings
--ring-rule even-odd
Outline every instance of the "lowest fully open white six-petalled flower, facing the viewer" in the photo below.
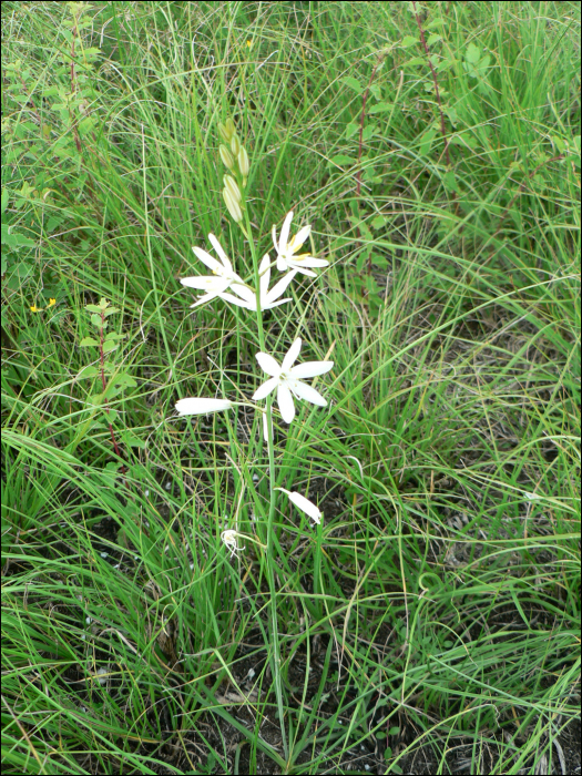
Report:
[[[256,355],[261,368],[263,371],[266,371],[267,375],[270,375],[270,379],[264,382],[254,392],[253,400],[258,401],[259,399],[264,399],[276,388],[277,404],[283,420],[285,420],[286,423],[290,423],[295,418],[294,396],[296,399],[305,399],[318,407],[325,407],[327,405],[324,397],[318,394],[315,388],[303,382],[302,378],[325,375],[333,368],[334,361],[306,361],[305,364],[298,364],[294,367],[293,365],[297,360],[300,349],[302,340],[297,337],[283,359],[280,367],[273,356],[266,353],[257,353]]]

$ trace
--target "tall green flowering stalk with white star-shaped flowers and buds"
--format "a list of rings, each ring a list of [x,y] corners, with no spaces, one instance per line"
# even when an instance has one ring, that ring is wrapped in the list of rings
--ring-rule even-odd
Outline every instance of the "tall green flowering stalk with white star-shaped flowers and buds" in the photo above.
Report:
[[[234,259],[231,261],[214,234],[208,234],[208,241],[218,258],[215,258],[201,247],[194,247],[193,251],[195,256],[211,269],[212,275],[184,277],[182,278],[182,283],[185,286],[204,292],[192,305],[193,307],[198,307],[207,303],[227,304],[234,305],[237,308],[241,307],[243,310],[247,310],[247,314],[255,315],[257,326],[256,339],[258,345],[256,360],[262,370],[269,377],[266,382],[257,388],[252,397],[252,401],[254,402],[262,402],[266,399],[264,407],[259,404],[254,405],[257,411],[263,416],[264,437],[267,443],[268,455],[269,509],[266,544],[258,542],[253,537],[239,533],[236,524],[234,528],[224,530],[221,538],[233,559],[236,553],[242,553],[245,550],[245,544],[239,544],[238,540],[242,542],[249,540],[258,544],[265,551],[264,557],[270,591],[270,630],[273,642],[272,672],[275,680],[285,756],[287,757],[274,573],[274,520],[277,494],[279,492],[285,493],[288,501],[312,518],[314,524],[320,523],[323,513],[316,504],[312,503],[300,493],[276,487],[273,392],[276,390],[276,400],[283,420],[286,423],[292,423],[296,415],[294,399],[308,401],[317,407],[325,407],[327,405],[326,399],[313,386],[305,382],[305,380],[325,375],[334,367],[334,363],[307,361],[296,364],[302,348],[302,340],[297,337],[290,344],[287,354],[280,360],[279,365],[279,361],[274,356],[265,351],[263,314],[267,309],[273,309],[290,302],[288,297],[283,299],[280,297],[298,274],[316,277],[317,275],[314,269],[327,266],[328,262],[312,256],[309,252],[299,253],[310,235],[312,227],[304,226],[293,237],[289,237],[293,211],[286,215],[278,237],[276,226],[273,226],[273,243],[276,252],[275,258],[272,262],[270,256],[265,254],[259,262],[261,254],[254,238],[245,196],[251,170],[248,152],[241,143],[232,119],[228,119],[224,124],[218,124],[218,133],[223,141],[219,145],[218,153],[222,163],[227,169],[227,173],[223,177],[224,187],[222,190],[222,196],[231,217],[248,241],[253,262],[253,277],[252,279],[243,279],[235,270],[236,262]],[[284,274],[269,289],[270,274],[274,266],[276,266],[278,272]],[[176,410],[181,416],[204,415],[228,410],[236,404],[239,402],[232,401],[225,397],[186,398],[176,404]]]

